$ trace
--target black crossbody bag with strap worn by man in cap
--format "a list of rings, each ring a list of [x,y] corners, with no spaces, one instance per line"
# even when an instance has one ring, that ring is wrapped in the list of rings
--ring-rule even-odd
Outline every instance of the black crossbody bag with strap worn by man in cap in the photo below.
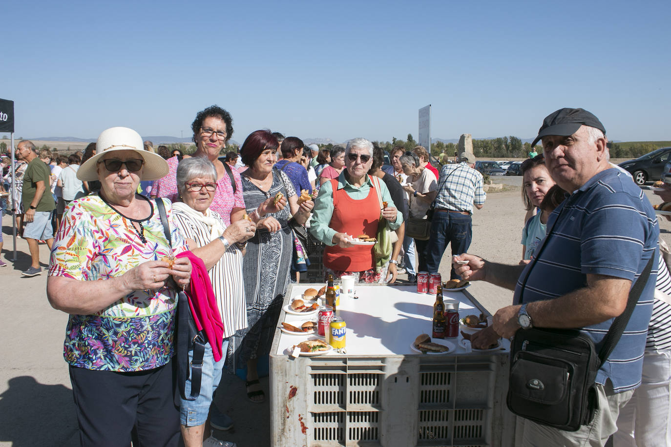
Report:
[[[563,211],[563,208],[562,208]],[[554,225],[559,221],[560,215]],[[553,225],[553,229],[554,229]],[[519,303],[533,265],[552,229],[527,270]],[[613,320],[597,355],[592,339],[577,329],[519,329],[511,342],[507,405],[517,416],[544,426],[575,432],[592,421],[599,408],[597,372],[613,352],[645,288],[654,255],[629,291],[627,307]]]

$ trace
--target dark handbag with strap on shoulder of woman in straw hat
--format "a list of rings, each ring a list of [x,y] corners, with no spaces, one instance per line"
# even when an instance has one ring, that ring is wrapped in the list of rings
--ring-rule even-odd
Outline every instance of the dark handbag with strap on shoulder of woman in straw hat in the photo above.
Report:
[[[166,208],[161,198],[156,198],[156,208],[163,225],[163,233],[172,247],[172,238],[170,237],[170,227],[168,227],[168,216]],[[174,355],[177,359],[177,387],[182,399],[195,401],[201,394],[201,379],[203,377],[203,356],[205,355],[205,345],[207,344],[207,335],[203,330],[196,328],[196,322],[193,320],[191,308],[189,308],[189,296],[183,291],[178,292],[177,296],[177,314],[174,337]],[[189,350],[193,349],[193,359],[189,365]],[[191,371],[189,371],[191,367]],[[185,393],[187,379],[191,373],[191,393],[189,396]]]

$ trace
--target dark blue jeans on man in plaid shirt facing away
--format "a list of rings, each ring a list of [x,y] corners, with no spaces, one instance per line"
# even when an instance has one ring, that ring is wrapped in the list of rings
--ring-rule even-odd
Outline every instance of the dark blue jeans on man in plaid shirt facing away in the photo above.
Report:
[[[438,272],[440,260],[448,244],[452,245],[452,255],[460,255],[468,251],[472,236],[470,214],[436,210],[431,220],[431,235],[426,249],[426,265],[429,273]],[[450,279],[454,278],[461,279],[453,268],[450,270]]]

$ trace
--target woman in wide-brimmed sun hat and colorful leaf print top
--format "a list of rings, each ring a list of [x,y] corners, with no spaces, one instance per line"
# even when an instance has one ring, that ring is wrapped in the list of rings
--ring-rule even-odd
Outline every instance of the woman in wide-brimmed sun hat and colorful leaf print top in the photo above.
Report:
[[[170,202],[172,246],[156,202],[136,193],[140,180],[167,172],[136,131],[103,131],[77,171],[101,190],[70,202],[56,236],[47,296],[70,314],[64,357],[83,446],[130,445],[134,426],[143,445],[180,441],[170,358],[176,288],[189,284],[191,263],[162,260],[188,249]]]

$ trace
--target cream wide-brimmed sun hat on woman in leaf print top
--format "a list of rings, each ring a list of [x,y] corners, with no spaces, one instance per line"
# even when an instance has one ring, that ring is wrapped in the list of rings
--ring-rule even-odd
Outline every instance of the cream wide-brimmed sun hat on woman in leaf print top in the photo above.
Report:
[[[96,153],[93,157],[77,170],[77,178],[85,182],[98,180],[97,164],[100,157],[112,151],[132,150],[144,159],[142,165],[142,178],[140,180],[158,180],[168,175],[168,163],[158,155],[144,150],[142,137],[133,129],[127,127],[110,127],[104,130],[98,137],[95,146]]]

